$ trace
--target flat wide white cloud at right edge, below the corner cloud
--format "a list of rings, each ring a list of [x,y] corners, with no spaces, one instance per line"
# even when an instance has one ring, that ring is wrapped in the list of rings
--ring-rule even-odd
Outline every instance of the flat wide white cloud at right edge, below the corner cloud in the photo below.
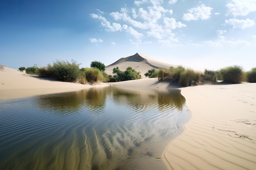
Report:
[[[247,18],[246,20],[229,19],[225,20],[225,24],[233,25],[233,28],[245,29],[254,26],[255,22],[254,20],[249,20],[249,18]]]

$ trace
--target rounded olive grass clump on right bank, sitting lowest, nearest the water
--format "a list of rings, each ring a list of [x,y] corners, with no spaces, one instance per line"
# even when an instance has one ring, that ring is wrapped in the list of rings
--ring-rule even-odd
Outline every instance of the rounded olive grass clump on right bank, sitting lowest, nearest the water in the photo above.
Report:
[[[180,74],[179,84],[181,86],[196,86],[201,80],[202,73],[192,69],[186,69]]]

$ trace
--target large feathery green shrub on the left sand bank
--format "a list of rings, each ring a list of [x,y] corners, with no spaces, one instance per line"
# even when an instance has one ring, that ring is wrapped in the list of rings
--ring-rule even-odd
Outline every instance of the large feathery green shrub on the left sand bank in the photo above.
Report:
[[[81,76],[79,65],[74,60],[71,62],[57,60],[53,65],[48,64],[47,67],[38,68],[37,74],[53,77],[63,82],[76,82]]]

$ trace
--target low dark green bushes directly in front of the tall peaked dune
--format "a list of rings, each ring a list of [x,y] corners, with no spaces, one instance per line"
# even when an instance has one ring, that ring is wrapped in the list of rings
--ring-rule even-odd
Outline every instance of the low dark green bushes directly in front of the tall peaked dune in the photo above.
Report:
[[[113,68],[113,74],[117,82],[132,80],[132,79],[141,79],[139,72],[132,69],[132,67],[127,67],[126,71],[119,70],[118,67]]]

